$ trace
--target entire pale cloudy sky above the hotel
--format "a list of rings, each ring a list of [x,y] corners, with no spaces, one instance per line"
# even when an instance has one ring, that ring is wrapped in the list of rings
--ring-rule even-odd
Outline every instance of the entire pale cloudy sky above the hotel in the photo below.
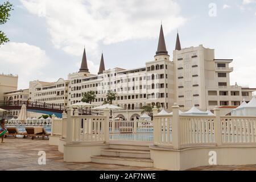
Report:
[[[216,49],[216,59],[234,59],[232,84],[256,88],[256,0],[10,2],[11,19],[0,27],[10,39],[0,47],[0,73],[19,75],[20,89],[77,72],[84,46],[91,73],[102,51],[106,68],[143,67],[155,55],[161,20],[171,56],[178,29],[181,47]]]

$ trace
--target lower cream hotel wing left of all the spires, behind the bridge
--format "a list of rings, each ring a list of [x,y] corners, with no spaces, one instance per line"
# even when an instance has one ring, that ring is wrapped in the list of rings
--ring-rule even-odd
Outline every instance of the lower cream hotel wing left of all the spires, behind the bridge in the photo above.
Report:
[[[60,78],[56,82],[30,82],[30,101],[55,106],[68,105],[68,84],[69,81]]]

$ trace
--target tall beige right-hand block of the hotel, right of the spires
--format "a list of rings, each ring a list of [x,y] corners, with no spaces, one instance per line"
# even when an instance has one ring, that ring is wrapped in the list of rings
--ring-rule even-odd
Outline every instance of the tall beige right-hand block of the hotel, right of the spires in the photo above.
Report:
[[[230,85],[233,60],[215,59],[214,49],[199,47],[174,51],[176,101],[183,110],[197,106],[201,110],[215,106],[239,106],[250,101],[255,89]]]

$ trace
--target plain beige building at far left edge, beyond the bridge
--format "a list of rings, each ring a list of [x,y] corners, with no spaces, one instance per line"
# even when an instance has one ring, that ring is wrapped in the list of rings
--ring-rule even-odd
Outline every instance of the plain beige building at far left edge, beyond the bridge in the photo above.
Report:
[[[0,74],[0,101],[3,101],[3,94],[11,90],[17,90],[18,76]]]

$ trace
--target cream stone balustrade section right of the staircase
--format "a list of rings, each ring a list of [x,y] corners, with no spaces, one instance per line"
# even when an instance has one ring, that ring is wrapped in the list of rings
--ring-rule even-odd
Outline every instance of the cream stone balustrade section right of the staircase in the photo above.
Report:
[[[179,106],[173,106],[173,115],[157,115],[154,108],[154,145],[174,149],[192,146],[223,146],[226,144],[256,144],[256,117],[214,115],[179,115]]]

